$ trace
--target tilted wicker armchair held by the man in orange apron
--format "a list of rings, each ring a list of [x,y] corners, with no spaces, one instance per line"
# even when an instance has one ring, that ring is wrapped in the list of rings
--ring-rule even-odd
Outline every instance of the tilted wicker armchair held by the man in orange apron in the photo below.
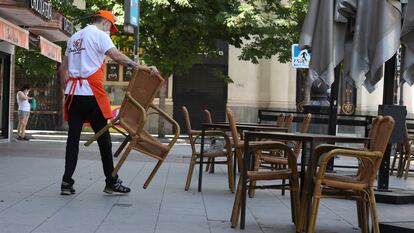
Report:
[[[139,69],[133,71],[118,116],[85,143],[85,146],[89,146],[109,128],[115,129],[125,136],[125,140],[114,154],[115,157],[118,157],[125,149],[112,172],[112,176],[116,176],[132,150],[139,151],[158,160],[155,168],[144,183],[144,189],[148,187],[180,135],[178,123],[167,113],[152,104],[164,83],[164,79],[156,74],[151,75],[150,72],[150,69],[144,66],[140,66]],[[149,111],[150,109],[151,112]],[[174,127],[175,134],[170,143],[165,145],[144,130],[147,117],[150,115],[159,115],[159,117],[164,118]]]

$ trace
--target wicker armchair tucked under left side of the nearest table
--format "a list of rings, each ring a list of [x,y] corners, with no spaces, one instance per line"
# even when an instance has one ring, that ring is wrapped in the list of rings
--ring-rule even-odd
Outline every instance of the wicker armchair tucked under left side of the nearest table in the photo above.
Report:
[[[294,155],[293,151],[284,143],[281,142],[273,142],[267,144],[253,144],[250,147],[251,152],[254,153],[256,156],[257,154],[262,153],[265,150],[282,150],[286,154],[286,159],[288,160],[288,167],[283,170],[263,170],[263,171],[247,171],[247,180],[246,183],[248,184],[249,190],[251,189],[280,189],[280,188],[288,188],[291,191],[290,199],[291,199],[291,216],[292,222],[298,223],[299,222],[299,174],[297,171],[297,163],[296,163],[296,156]],[[243,168],[245,169],[245,168]],[[283,180],[288,179],[289,184],[268,184],[269,181],[276,181],[276,180]],[[256,181],[267,181],[266,185],[256,185]],[[231,214],[231,227],[235,228],[238,224],[238,220],[240,217],[241,212],[241,203],[242,203],[242,185],[243,185],[243,177],[240,176],[239,183],[237,185],[237,191],[235,195],[235,200],[233,204],[233,210]],[[246,201],[246,200],[244,200]],[[244,224],[243,224],[244,225]]]

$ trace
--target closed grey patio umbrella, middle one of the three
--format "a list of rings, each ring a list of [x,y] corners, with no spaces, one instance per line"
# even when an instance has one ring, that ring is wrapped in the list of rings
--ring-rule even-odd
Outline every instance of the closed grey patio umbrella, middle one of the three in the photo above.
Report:
[[[372,92],[382,78],[382,65],[400,46],[401,3],[397,0],[339,0],[338,11],[350,23],[345,73],[357,87],[364,85]]]

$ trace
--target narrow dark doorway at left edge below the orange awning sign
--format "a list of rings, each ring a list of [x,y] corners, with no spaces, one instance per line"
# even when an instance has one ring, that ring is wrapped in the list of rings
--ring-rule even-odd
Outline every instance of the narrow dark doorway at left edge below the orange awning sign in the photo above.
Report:
[[[0,139],[9,137],[10,55],[0,52]]]

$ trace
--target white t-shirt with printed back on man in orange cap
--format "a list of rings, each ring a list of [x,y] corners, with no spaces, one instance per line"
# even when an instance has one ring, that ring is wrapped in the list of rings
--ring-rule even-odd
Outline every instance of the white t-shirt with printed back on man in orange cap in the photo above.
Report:
[[[68,57],[69,77],[88,77],[101,68],[105,53],[115,47],[111,38],[95,25],[89,25],[76,32],[67,43],[65,56]],[[65,94],[69,93],[72,81],[66,85]],[[77,83],[74,95],[93,95],[88,81],[83,80],[82,86]]]

